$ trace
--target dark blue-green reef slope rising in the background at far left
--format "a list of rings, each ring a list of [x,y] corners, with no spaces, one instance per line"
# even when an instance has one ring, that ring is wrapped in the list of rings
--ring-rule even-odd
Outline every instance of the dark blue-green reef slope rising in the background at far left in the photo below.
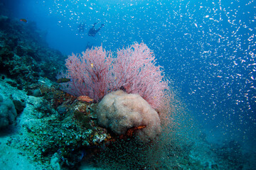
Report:
[[[57,70],[63,67],[63,55],[47,47],[44,39],[36,23],[24,25],[15,18],[0,16],[0,73],[15,79],[14,86],[19,89],[27,89],[40,77],[54,81]]]

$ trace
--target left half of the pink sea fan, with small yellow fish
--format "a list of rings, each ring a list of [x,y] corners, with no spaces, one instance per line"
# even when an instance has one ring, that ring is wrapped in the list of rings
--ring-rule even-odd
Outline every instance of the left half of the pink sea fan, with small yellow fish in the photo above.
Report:
[[[72,81],[61,84],[62,89],[73,96],[90,96],[95,101],[107,94],[112,81],[110,67],[112,55],[102,47],[87,49],[81,55],[72,54],[65,60],[67,71],[60,72],[57,79],[68,78]]]

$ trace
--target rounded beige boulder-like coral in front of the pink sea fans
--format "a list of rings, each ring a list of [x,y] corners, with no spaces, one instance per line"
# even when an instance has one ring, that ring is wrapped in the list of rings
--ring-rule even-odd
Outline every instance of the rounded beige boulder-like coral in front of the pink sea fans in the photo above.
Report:
[[[114,91],[107,94],[97,106],[98,122],[118,135],[129,128],[146,126],[136,131],[142,140],[152,140],[161,132],[158,113],[139,94]]]

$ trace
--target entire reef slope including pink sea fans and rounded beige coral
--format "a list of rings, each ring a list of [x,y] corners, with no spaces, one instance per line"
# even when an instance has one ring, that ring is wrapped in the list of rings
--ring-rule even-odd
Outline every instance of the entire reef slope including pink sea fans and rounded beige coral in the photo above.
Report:
[[[183,115],[185,111],[174,98],[161,96],[162,92],[166,95],[166,82],[143,43],[118,50],[119,57],[111,65],[107,65],[111,54],[101,47],[82,54],[92,59],[86,64],[82,57],[72,55],[67,61],[75,62],[69,63],[69,69],[77,69],[72,64],[85,67],[72,72],[73,77],[69,71],[63,73],[60,77],[70,79],[58,85],[55,74],[62,69],[63,55],[47,47],[45,35],[36,23],[0,16],[1,169],[82,169],[80,164],[98,169],[255,168],[256,154],[243,153],[238,142],[212,145],[206,135],[191,130],[190,114]],[[114,74],[105,72],[110,67]],[[74,78],[85,68],[95,72],[89,78],[98,84],[90,83],[104,89],[95,94],[99,103],[90,103],[87,90],[81,91],[87,79],[80,83]],[[102,72],[107,73],[105,77],[100,77]],[[115,86],[106,88],[109,85],[102,81],[107,79]],[[156,81],[147,82],[149,79]],[[157,82],[164,83],[155,86]],[[77,90],[75,96],[60,91],[67,85],[70,91]],[[122,91],[112,92],[115,90]],[[165,105],[158,103],[159,98]],[[175,103],[175,107],[166,103]]]

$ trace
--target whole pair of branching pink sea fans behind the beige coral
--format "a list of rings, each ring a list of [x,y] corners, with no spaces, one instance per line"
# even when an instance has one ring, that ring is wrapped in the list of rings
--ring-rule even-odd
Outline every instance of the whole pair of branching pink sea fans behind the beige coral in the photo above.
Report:
[[[65,65],[68,70],[57,78],[73,81],[61,84],[63,90],[74,96],[90,96],[95,101],[123,89],[139,94],[152,108],[158,108],[164,90],[168,89],[161,67],[156,66],[153,52],[143,42],[117,50],[116,58],[102,47],[95,47],[82,52],[82,56],[70,55]]]

